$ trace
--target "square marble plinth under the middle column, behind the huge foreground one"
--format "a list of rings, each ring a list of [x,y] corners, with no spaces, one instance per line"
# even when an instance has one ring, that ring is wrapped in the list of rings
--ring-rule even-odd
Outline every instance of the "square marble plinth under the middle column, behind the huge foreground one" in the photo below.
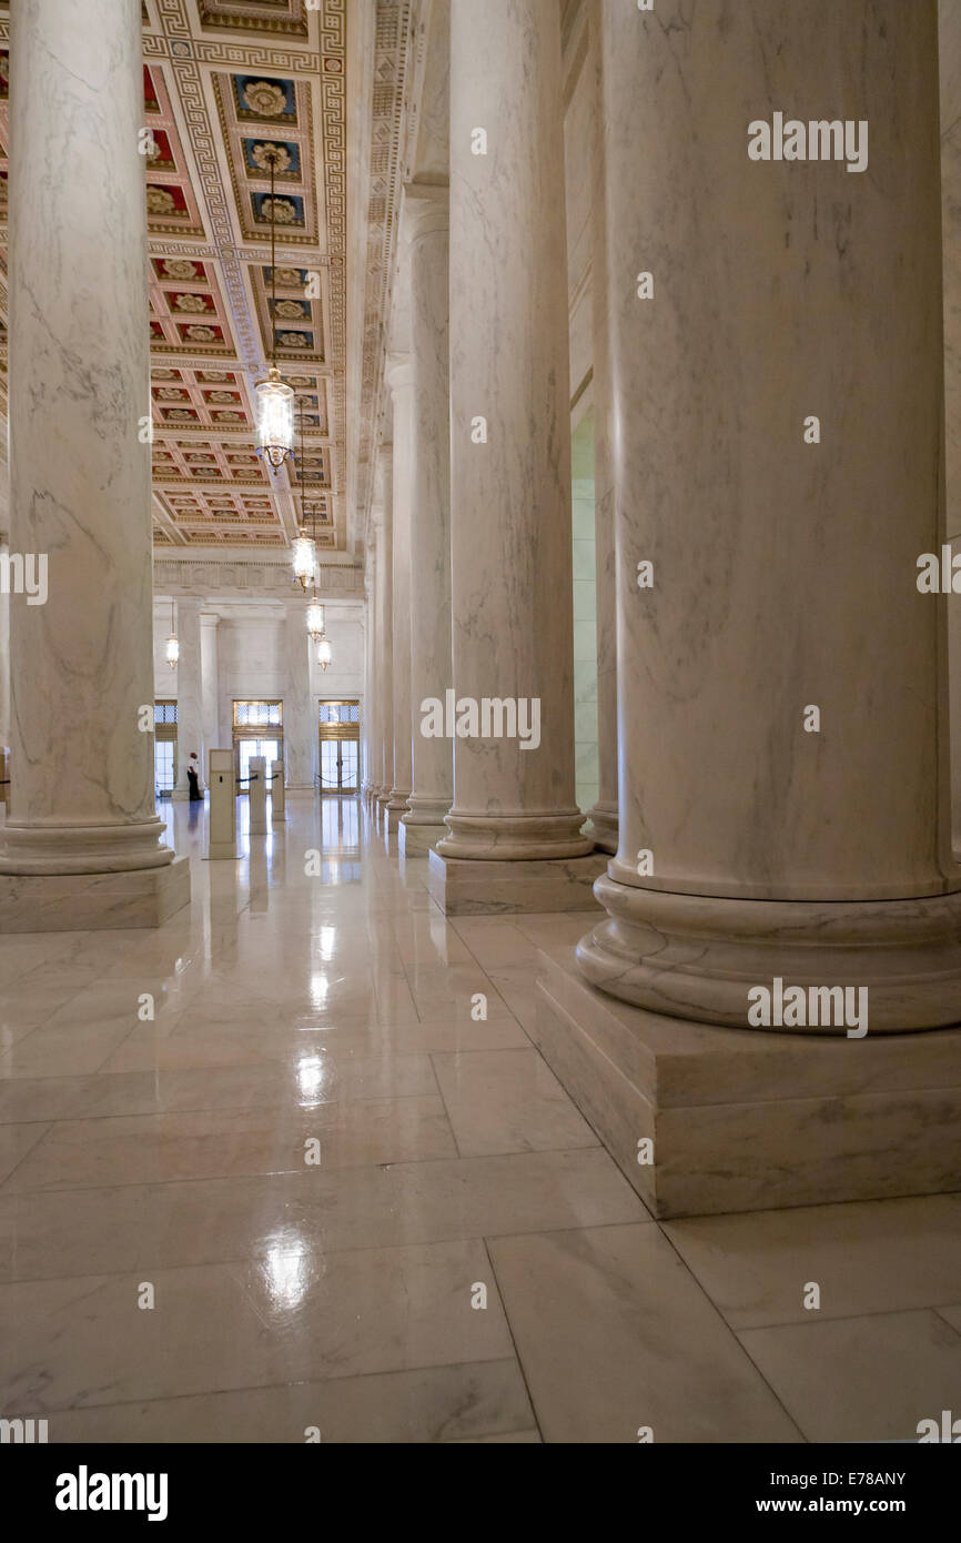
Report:
[[[429,852],[427,889],[447,917],[600,910],[594,883],[606,869],[603,853],[583,858],[487,863]]]

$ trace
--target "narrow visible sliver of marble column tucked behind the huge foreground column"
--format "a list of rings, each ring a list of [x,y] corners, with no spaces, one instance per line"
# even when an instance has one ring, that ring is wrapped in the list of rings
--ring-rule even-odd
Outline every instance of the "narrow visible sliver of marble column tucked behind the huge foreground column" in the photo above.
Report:
[[[594,96],[594,202],[591,306],[594,312],[594,539],[597,555],[597,802],[591,810],[602,852],[617,852],[617,579],[611,466],[611,361],[608,358],[608,259],[603,160],[602,0],[591,5]]]

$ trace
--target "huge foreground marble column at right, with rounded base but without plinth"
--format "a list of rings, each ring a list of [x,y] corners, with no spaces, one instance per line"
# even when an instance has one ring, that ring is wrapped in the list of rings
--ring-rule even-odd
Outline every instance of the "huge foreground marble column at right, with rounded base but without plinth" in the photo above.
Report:
[[[958,1023],[936,5],[663,23],[603,5],[620,849],[580,964],[717,1025],[774,978]],[[745,103],[799,102],[870,170],[751,159]]]

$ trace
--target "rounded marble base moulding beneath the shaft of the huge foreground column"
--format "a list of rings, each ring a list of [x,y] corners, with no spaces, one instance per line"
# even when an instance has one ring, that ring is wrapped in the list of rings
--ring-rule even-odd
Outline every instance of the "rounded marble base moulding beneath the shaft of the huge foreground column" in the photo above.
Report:
[[[867,1032],[961,1025],[961,892],[919,900],[797,901],[677,895],[599,878],[608,912],[577,946],[586,978],[651,1012],[764,1032],[847,1035],[811,992],[867,989]],[[781,983],[776,986],[776,983]],[[771,1023],[748,1017],[771,994]],[[791,988],[805,995],[774,1021]],[[851,998],[859,1001],[858,997]],[[754,1006],[754,1014],[756,1014]]]

